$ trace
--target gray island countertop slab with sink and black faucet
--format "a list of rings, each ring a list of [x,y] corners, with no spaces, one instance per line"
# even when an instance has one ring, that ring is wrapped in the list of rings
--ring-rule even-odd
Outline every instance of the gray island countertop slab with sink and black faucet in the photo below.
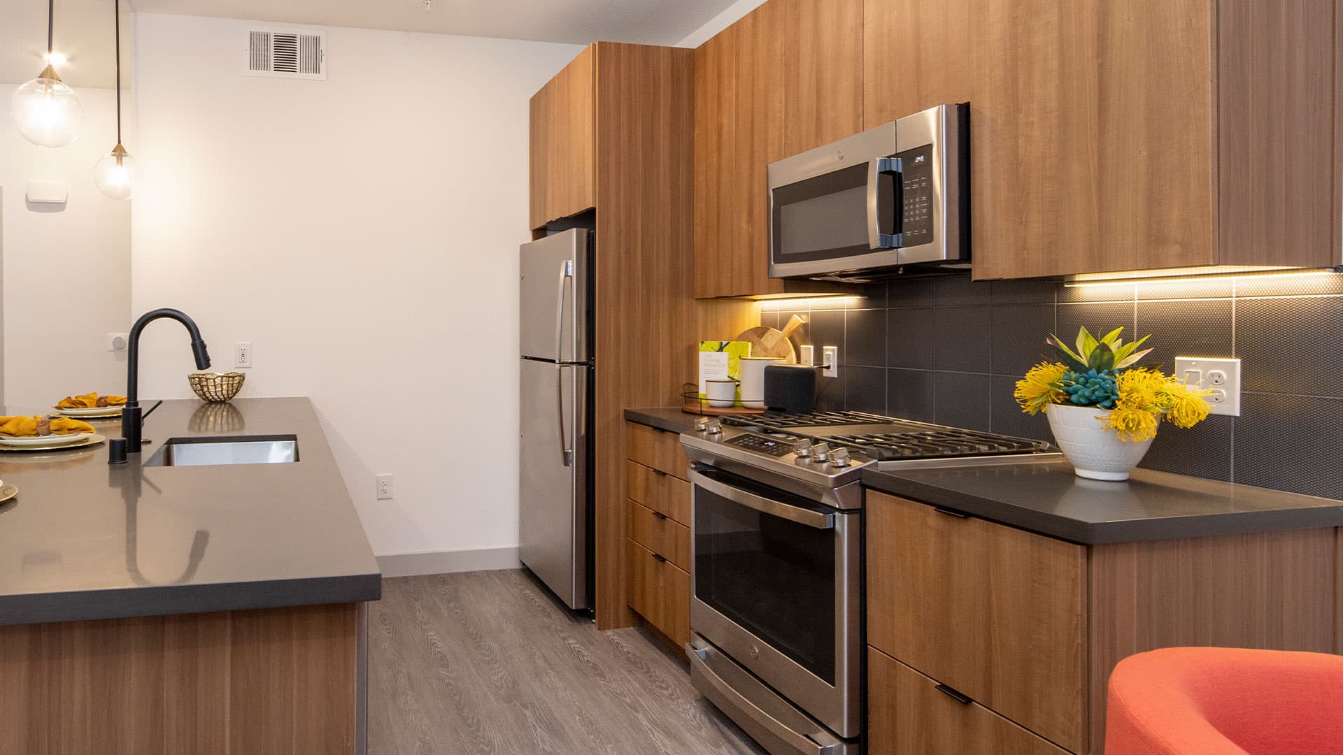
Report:
[[[121,434],[120,419],[95,427]],[[299,461],[141,466],[171,437],[265,434],[297,435]],[[107,465],[107,443],[0,451],[0,478],[19,486],[0,504],[0,625],[380,598],[309,399],[169,400],[145,438],[122,466]]]

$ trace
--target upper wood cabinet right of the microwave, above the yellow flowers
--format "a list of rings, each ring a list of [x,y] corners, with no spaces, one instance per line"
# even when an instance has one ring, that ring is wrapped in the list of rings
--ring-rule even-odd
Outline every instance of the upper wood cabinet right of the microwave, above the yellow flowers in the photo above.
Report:
[[[865,0],[865,125],[971,103],[975,278],[1338,265],[1339,4]]]

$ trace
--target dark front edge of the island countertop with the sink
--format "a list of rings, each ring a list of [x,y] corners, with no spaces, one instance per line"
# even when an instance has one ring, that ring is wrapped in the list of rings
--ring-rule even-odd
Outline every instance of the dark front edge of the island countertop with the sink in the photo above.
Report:
[[[4,599],[7,611],[0,614],[0,626],[365,603],[380,601],[381,596],[380,572],[220,584],[167,584],[138,590],[32,592]]]

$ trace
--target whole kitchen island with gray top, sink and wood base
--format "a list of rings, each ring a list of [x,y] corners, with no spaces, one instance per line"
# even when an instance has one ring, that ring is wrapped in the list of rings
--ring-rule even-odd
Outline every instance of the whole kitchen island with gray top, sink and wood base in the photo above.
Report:
[[[258,435],[297,461],[152,465]],[[361,752],[381,576],[312,402],[168,400],[144,437],[0,451],[0,752]]]

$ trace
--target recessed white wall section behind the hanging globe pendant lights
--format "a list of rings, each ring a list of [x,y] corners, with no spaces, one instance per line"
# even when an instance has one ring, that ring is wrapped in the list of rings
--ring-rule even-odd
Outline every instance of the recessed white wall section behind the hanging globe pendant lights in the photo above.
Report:
[[[93,183],[93,167],[117,142],[115,91],[78,89],[79,138],[50,149],[9,124],[16,87],[0,85],[3,400],[43,410],[67,394],[126,386],[124,356],[106,351],[106,333],[129,328],[130,203],[107,199]],[[134,152],[134,141],[126,144]],[[30,206],[34,179],[64,181],[68,202]]]

